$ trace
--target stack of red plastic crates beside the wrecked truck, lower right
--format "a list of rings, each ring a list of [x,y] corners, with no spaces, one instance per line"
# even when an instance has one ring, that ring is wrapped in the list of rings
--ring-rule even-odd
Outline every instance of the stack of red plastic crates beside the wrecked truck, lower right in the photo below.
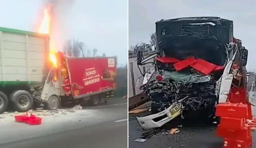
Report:
[[[246,124],[248,105],[242,103],[220,103],[216,108],[220,116],[217,136],[224,138],[223,148],[250,148],[252,133]]]

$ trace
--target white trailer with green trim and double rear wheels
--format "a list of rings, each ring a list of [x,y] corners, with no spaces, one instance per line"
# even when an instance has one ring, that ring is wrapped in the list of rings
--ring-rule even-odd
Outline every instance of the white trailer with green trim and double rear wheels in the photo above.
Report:
[[[8,106],[22,112],[40,104],[49,52],[48,34],[0,27],[0,114]]]

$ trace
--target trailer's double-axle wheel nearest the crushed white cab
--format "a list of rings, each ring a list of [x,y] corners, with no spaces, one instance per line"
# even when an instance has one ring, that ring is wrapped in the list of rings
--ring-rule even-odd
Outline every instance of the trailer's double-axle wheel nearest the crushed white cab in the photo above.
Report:
[[[33,108],[33,97],[28,91],[14,91],[10,100],[15,111],[26,112]]]

